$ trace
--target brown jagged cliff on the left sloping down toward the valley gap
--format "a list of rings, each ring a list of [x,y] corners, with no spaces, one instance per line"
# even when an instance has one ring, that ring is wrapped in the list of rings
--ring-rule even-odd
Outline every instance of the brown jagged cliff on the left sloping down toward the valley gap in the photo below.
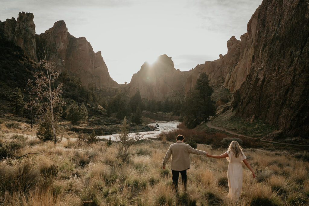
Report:
[[[68,70],[80,78],[84,85],[100,88],[118,85],[109,76],[101,52],[95,53],[85,37],[70,35],[64,21],[54,23],[52,28],[37,35],[36,40],[38,56],[42,57],[44,46],[47,59],[56,62],[58,70]]]

